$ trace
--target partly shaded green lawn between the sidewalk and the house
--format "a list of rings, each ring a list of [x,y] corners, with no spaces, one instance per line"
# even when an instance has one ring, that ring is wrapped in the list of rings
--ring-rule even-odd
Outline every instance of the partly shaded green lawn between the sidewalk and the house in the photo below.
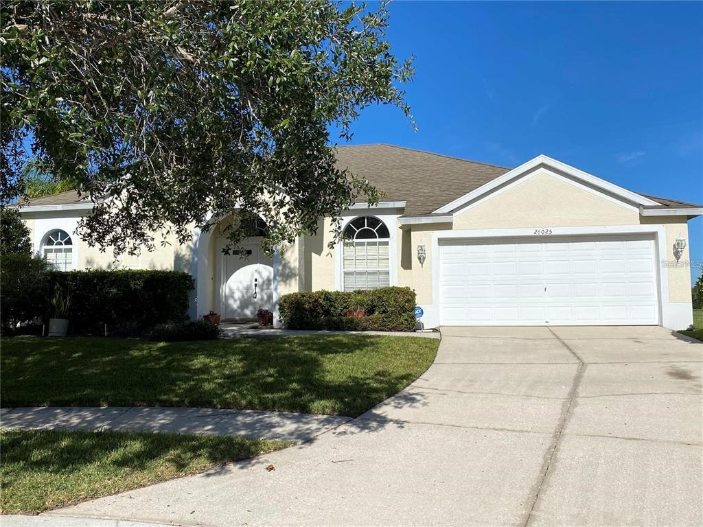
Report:
[[[438,339],[2,340],[0,403],[288,410],[356,417],[430,366]]]

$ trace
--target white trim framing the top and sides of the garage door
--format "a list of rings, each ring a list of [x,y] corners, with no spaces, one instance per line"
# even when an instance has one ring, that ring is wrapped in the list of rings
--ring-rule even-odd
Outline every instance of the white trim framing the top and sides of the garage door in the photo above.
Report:
[[[535,230],[550,230],[550,235],[535,234]],[[628,235],[628,234],[653,234],[654,255],[656,261],[666,255],[666,233],[661,225],[633,225],[633,226],[593,226],[593,227],[550,227],[534,226],[534,228],[512,228],[512,229],[481,229],[481,230],[446,230],[432,234],[432,304],[427,323],[436,320],[439,325],[439,240],[485,240],[500,238],[523,238],[524,240],[548,240],[550,238],[562,236],[586,236],[586,235]],[[676,306],[669,303],[669,274],[666,268],[657,266],[657,287],[659,289],[659,324],[664,327],[671,327],[676,324]],[[423,306],[423,308],[425,308]],[[428,310],[425,308],[425,312]],[[429,325],[428,325],[429,327]]]

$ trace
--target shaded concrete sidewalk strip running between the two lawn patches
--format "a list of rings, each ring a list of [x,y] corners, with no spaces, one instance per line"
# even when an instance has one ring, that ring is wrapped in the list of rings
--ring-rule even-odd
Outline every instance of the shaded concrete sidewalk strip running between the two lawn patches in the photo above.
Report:
[[[0,410],[3,429],[177,432],[283,439],[302,443],[350,417],[258,410],[164,407],[41,407]]]

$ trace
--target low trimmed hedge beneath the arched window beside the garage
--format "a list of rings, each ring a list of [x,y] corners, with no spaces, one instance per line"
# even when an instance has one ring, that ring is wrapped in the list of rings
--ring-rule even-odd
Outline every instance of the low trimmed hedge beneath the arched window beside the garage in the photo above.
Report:
[[[366,316],[346,316],[359,308]],[[410,287],[303,291],[280,297],[278,311],[290,330],[413,331],[415,291]]]

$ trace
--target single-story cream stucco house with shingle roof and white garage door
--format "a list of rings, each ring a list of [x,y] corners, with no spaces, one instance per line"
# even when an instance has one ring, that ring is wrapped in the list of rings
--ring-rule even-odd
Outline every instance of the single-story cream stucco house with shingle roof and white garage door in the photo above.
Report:
[[[21,212],[34,249],[57,268],[191,273],[193,317],[212,309],[252,318],[294,291],[400,285],[415,289],[423,327],[692,323],[687,222],[700,205],[638,194],[543,155],[514,169],[389,145],[341,147],[337,157],[385,196],[345,211],[353,241],[331,250],[321,219],[316,235],[273,256],[259,238],[245,254],[223,254],[217,228],[194,228],[188,245],[171,240],[115,263],[75,235],[92,207],[76,193]]]

